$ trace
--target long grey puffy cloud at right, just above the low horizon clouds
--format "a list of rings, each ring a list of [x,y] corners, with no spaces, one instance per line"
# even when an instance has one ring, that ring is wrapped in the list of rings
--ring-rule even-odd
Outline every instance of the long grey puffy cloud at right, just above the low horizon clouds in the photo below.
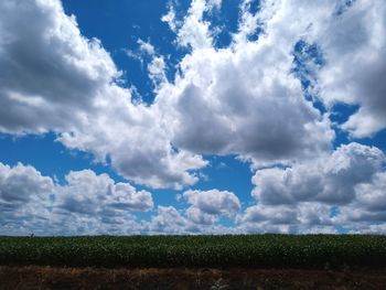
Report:
[[[355,186],[372,182],[384,162],[385,155],[379,149],[350,143],[331,155],[292,168],[257,171],[253,194],[270,205],[304,201],[347,204],[355,198]]]

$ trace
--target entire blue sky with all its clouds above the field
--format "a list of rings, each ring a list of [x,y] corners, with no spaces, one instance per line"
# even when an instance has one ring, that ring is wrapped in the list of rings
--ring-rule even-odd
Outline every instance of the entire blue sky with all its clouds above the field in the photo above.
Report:
[[[383,0],[2,0],[0,235],[386,233]]]

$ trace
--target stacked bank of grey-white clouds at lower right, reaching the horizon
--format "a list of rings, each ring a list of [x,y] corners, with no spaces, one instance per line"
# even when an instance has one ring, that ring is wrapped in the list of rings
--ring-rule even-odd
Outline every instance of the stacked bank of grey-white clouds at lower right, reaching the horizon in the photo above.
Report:
[[[374,232],[386,222],[384,153],[350,143],[330,155],[291,168],[258,170],[253,195],[258,204],[237,217],[244,232]],[[373,226],[372,226],[373,225]]]

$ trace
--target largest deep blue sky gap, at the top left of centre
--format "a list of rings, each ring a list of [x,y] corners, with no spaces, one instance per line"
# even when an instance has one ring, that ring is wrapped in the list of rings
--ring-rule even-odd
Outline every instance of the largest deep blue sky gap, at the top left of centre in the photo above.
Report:
[[[187,9],[186,4],[176,7]],[[175,74],[175,64],[185,55],[175,44],[175,34],[167,23],[161,21],[168,13],[164,1],[109,1],[98,0],[95,4],[87,1],[63,0],[67,14],[76,15],[79,30],[86,37],[97,37],[110,53],[116,66],[124,72],[121,84],[126,87],[136,87],[137,93],[146,103],[152,103],[153,86],[147,73],[147,63],[128,56],[128,51],[139,52],[138,40],[150,42],[156,52],[168,58],[167,77],[172,79]]]

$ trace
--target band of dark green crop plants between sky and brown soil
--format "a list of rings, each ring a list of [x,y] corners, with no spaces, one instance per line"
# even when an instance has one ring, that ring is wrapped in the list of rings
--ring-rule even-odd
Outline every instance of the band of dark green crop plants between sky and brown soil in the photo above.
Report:
[[[386,236],[0,237],[0,265],[384,268]]]

